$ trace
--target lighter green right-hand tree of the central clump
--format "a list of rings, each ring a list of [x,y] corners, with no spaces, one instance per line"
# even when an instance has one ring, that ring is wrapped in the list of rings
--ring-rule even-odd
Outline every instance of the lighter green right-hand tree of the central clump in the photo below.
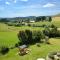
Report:
[[[34,31],[33,32],[33,42],[34,43],[41,42],[41,39],[43,39],[44,36],[45,35],[43,34],[43,32],[41,32],[41,31]]]

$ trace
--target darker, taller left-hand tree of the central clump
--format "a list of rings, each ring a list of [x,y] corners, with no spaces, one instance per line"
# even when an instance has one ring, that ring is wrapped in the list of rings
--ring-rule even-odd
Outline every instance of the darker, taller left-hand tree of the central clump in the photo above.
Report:
[[[22,44],[30,44],[32,42],[32,32],[30,30],[19,31],[18,38]]]

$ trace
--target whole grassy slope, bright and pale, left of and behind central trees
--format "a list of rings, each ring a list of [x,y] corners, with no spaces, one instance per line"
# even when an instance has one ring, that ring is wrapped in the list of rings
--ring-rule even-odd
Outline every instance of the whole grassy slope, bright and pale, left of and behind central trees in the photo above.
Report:
[[[18,42],[17,34],[20,30],[42,30],[42,27],[14,27],[7,26],[6,24],[0,23],[0,46],[13,46]]]

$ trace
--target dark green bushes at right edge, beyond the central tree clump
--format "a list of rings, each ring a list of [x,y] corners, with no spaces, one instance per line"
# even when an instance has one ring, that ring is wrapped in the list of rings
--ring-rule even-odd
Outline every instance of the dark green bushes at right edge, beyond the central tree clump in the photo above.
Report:
[[[43,33],[50,38],[51,37],[60,37],[60,31],[57,30],[57,27],[54,27],[52,29],[45,28],[45,30],[43,30]]]

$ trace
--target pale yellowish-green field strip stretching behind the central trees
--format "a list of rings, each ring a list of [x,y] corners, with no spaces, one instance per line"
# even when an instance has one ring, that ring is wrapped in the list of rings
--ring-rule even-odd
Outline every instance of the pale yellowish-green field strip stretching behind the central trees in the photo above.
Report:
[[[0,32],[18,32],[20,30],[43,30],[42,27],[29,27],[29,26],[21,26],[21,27],[14,27],[14,26],[8,26],[6,24],[0,23]]]

